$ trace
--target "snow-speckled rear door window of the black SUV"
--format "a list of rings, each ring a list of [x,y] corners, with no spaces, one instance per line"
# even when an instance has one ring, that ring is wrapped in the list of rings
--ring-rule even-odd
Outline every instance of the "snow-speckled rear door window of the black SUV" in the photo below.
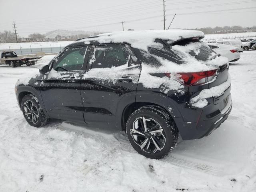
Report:
[[[89,69],[118,67],[129,62],[130,55],[123,45],[95,46],[90,54]]]

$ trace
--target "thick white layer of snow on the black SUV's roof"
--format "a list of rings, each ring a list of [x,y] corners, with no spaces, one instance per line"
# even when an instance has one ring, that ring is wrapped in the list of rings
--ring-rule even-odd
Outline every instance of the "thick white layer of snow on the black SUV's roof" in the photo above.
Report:
[[[204,33],[194,30],[142,30],[142,31],[122,31],[100,34],[95,37],[84,38],[77,42],[90,44],[90,41],[99,43],[122,43],[127,42],[134,48],[147,50],[147,47],[154,44],[155,39],[177,41],[182,38],[204,37]]]

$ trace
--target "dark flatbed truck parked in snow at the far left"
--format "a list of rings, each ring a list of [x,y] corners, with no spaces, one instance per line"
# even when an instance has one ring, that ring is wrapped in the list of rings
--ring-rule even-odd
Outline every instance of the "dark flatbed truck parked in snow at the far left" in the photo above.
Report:
[[[0,64],[10,65],[11,67],[19,67],[23,64],[26,66],[34,65],[38,60],[41,60],[42,56],[36,57],[21,57],[17,56],[14,51],[0,52]]]

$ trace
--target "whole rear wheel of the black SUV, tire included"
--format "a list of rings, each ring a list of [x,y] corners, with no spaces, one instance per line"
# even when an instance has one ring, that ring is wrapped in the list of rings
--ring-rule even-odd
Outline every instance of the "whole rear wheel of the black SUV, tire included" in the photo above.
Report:
[[[143,122],[146,122],[145,132]],[[152,134],[156,131],[162,133]],[[164,110],[155,106],[143,106],[135,110],[127,120],[126,133],[133,148],[139,154],[152,159],[164,158],[178,142],[178,129],[174,121]]]

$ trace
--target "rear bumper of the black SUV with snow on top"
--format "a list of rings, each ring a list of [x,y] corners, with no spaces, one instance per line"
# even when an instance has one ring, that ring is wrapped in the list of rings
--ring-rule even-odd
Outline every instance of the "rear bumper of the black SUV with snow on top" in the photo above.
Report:
[[[204,88],[202,88],[202,90],[204,90]],[[228,118],[231,112],[231,79],[229,75],[226,82],[213,86],[210,89],[206,88],[207,91],[203,92],[202,90],[197,92],[196,96],[190,96],[189,100],[191,101],[194,98],[198,98],[199,100],[204,99],[207,100],[208,104],[202,108],[196,107],[197,105],[193,104],[183,105],[182,108],[179,108],[182,117],[174,118],[183,140],[199,139],[208,136]],[[218,92],[216,92],[217,90],[221,91],[222,94],[219,95]],[[191,95],[193,95],[193,93],[194,92],[190,91]],[[208,93],[212,96],[216,93],[216,96],[207,98]]]

